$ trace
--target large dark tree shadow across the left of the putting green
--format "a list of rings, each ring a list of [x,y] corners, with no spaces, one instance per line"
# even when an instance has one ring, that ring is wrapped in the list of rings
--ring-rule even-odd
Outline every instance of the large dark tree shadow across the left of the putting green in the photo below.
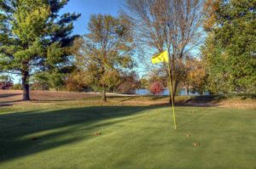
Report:
[[[95,106],[2,114],[0,162],[95,138],[96,130],[126,121],[126,118],[119,117],[136,115],[146,109],[152,107]]]

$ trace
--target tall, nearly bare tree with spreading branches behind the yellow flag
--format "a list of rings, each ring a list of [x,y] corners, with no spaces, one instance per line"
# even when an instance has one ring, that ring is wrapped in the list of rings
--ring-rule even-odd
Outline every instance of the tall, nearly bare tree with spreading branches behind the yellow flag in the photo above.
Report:
[[[167,50],[173,97],[180,82],[185,55],[200,43],[202,0],[126,0],[125,14],[133,22],[135,39],[151,53]],[[147,55],[148,59],[151,55]],[[161,69],[168,74],[168,65]],[[170,94],[170,102],[171,102]],[[174,98],[173,98],[174,99]]]

